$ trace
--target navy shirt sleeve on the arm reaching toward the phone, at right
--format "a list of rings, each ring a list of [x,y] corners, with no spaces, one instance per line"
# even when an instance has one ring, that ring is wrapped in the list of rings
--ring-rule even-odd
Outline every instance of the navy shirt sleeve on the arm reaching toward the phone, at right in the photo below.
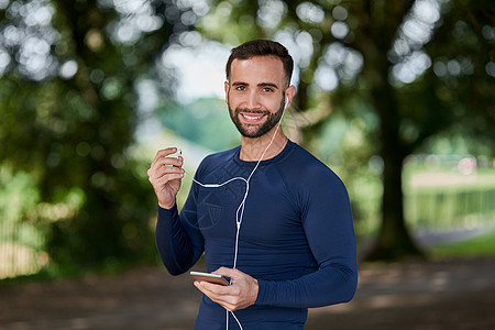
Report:
[[[292,280],[258,279],[256,305],[311,308],[346,302],[358,286],[354,227],[346,189],[331,173],[308,180],[302,221],[318,271]]]

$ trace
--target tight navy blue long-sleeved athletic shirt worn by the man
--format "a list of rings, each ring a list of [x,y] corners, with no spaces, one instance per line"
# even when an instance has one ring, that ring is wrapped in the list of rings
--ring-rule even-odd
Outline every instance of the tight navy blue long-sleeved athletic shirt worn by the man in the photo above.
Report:
[[[241,147],[207,156],[195,178],[221,184],[248,179],[257,162]],[[235,213],[246,184],[220,188],[193,183],[177,207],[158,207],[156,245],[168,272],[191,268],[205,252],[208,272],[232,267]],[[308,308],[352,299],[358,284],[355,235],[348,193],[339,177],[306,150],[287,142],[262,161],[250,182],[237,268],[257,279],[256,302],[235,311],[244,330],[304,329]],[[239,329],[229,317],[229,329]],[[226,310],[204,296],[195,329],[226,329]]]

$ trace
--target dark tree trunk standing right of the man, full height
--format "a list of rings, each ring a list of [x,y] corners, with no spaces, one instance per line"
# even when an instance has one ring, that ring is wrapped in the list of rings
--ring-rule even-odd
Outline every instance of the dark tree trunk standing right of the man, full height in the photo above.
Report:
[[[392,63],[386,56],[414,1],[391,1],[387,6],[373,1],[366,3],[369,26],[361,48],[367,64],[363,74],[371,84],[371,102],[380,119],[378,153],[384,164],[382,222],[375,245],[366,258],[393,261],[422,255],[404,218],[402,172],[403,161],[410,153],[410,146],[400,139],[400,107],[396,90],[388,81]]]

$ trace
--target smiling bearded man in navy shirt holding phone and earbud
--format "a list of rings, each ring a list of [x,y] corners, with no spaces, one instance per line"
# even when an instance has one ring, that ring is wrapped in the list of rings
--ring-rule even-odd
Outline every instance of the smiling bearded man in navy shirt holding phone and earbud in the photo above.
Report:
[[[345,187],[279,128],[296,92],[293,66],[276,42],[232,50],[226,101],[241,145],[201,162],[180,215],[183,157],[170,156],[175,147],[158,151],[148,169],[166,268],[182,274],[205,252],[208,272],[231,279],[230,286],[195,282],[205,294],[195,329],[227,322],[230,329],[304,329],[308,308],[349,301],[355,293]]]

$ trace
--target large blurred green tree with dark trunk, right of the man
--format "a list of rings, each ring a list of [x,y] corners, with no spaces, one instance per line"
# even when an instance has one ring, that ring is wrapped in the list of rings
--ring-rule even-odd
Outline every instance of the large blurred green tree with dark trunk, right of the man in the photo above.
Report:
[[[398,260],[422,254],[404,218],[406,156],[444,132],[469,134],[493,154],[494,7],[490,0],[219,0],[198,26],[232,45],[270,37],[297,50],[293,108],[305,114],[307,140],[334,118],[330,112],[364,121],[360,165],[374,155],[383,164],[381,229],[367,257]]]

